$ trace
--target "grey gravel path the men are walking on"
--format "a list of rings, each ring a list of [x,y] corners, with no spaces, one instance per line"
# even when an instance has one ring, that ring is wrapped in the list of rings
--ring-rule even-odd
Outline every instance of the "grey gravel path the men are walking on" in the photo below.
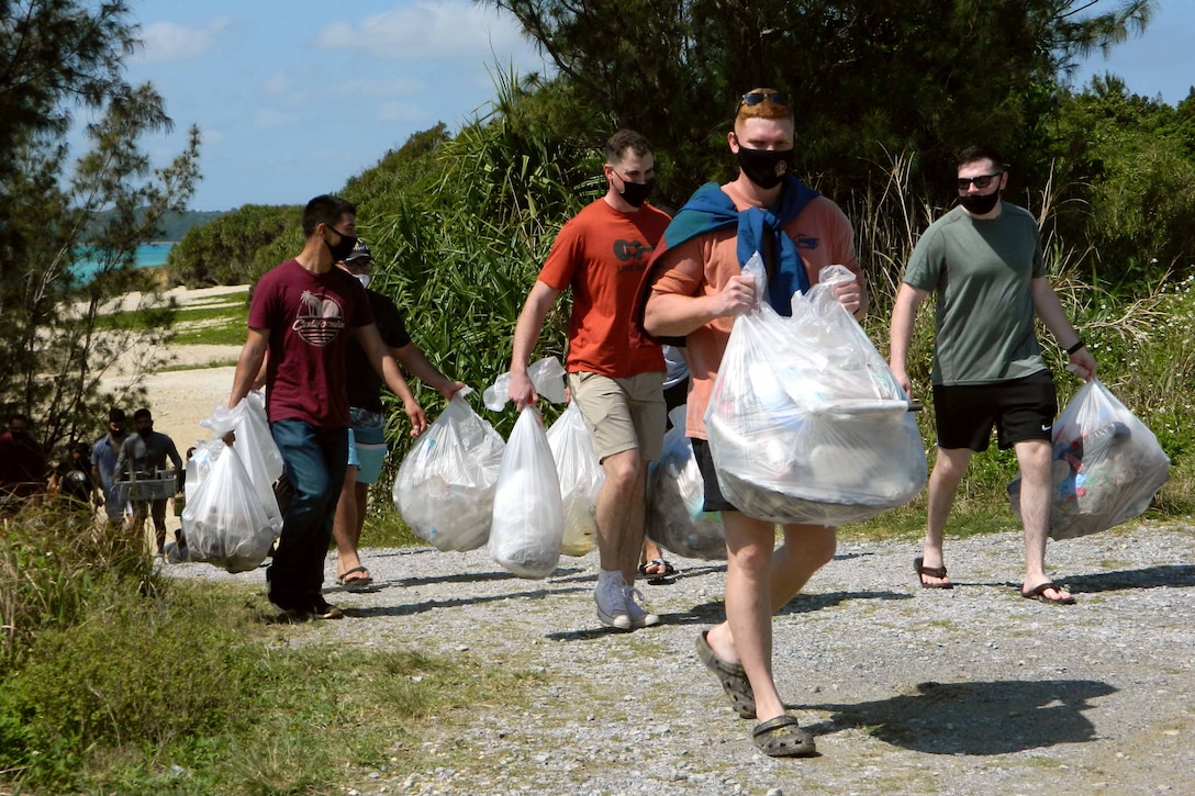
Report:
[[[364,550],[375,588],[326,589],[347,618],[282,632],[544,673],[528,708],[446,717],[418,773],[362,771],[350,795],[1193,794],[1193,543],[1154,523],[1052,544],[1072,607],[1013,590],[1019,534],[948,540],[952,592],[917,587],[907,541],[840,544],[774,622],[777,682],[817,740],[803,760],[756,752],[693,653],[722,562],[673,557],[674,582],[642,586],[663,625],[623,635],[594,613],[596,553],[527,581],[484,549]]]

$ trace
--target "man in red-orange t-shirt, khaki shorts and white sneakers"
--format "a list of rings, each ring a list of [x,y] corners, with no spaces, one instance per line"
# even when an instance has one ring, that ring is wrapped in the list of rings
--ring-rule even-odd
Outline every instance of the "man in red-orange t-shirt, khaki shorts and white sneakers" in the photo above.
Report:
[[[660,624],[635,589],[643,546],[648,463],[660,457],[667,421],[664,359],[658,345],[632,345],[631,306],[668,215],[645,204],[655,183],[648,140],[619,130],[606,143],[606,195],[560,228],[515,325],[510,399],[538,398],[527,362],[544,318],[572,288],[569,391],[581,408],[606,480],[598,494],[600,571],[594,600],[602,624],[635,630]]]

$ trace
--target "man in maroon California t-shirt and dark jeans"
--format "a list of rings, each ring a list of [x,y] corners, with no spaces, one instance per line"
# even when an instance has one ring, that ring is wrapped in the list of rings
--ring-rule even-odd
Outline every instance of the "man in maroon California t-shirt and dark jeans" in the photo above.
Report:
[[[228,406],[249,393],[265,361],[265,411],[294,490],[265,570],[270,602],[294,617],[332,619],[342,614],[321,590],[348,464],[350,333],[403,400],[413,434],[423,433],[427,417],[378,333],[364,288],[335,267],[356,244],[356,208],[337,196],[317,196],[304,209],[302,231],[299,256],[263,275],[253,290]]]

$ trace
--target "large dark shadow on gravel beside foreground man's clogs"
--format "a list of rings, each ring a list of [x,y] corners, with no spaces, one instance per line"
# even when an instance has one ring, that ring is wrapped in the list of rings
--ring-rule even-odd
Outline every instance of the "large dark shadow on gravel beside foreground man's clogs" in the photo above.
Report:
[[[1116,688],[1098,680],[920,682],[914,693],[858,704],[790,705],[831,711],[814,735],[848,727],[926,754],[1007,754],[1097,740],[1083,711]]]

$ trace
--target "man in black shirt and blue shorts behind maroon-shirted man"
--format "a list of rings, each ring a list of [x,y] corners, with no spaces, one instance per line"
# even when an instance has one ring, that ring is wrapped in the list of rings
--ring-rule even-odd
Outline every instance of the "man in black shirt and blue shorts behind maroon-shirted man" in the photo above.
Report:
[[[442,374],[423,351],[411,342],[398,307],[388,298],[369,289],[373,253],[364,241],[357,240],[353,251],[337,265],[353,275],[366,288],[369,308],[381,339],[403,368],[435,387],[451,400],[465,385]],[[361,563],[357,547],[364,527],[369,486],[378,483],[386,460],[386,418],[382,415],[382,380],[369,367],[364,349],[349,339],[345,350],[345,378],[349,390],[349,464],[344,471],[344,486],[336,503],[332,537],[336,540],[336,582],[349,590],[373,583],[373,575]]]

